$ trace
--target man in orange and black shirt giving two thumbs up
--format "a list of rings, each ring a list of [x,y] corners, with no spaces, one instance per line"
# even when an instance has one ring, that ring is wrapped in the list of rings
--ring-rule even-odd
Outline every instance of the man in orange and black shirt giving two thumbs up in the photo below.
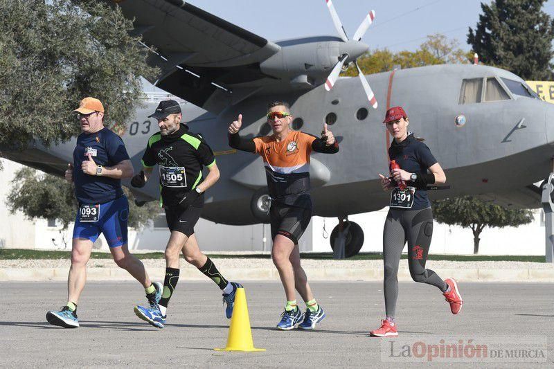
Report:
[[[273,129],[271,136],[240,138],[240,114],[238,120],[229,125],[229,145],[237,150],[255,152],[264,161],[271,197],[271,258],[279,271],[287,297],[285,312],[277,327],[292,330],[302,321],[298,328],[311,330],[316,323],[323,321],[325,312],[316,303],[307,283],[298,249],[298,240],[312,218],[310,154],[312,151],[334,154],[339,152],[339,145],[327,125],[323,125],[321,138],[290,129],[292,114],[287,102],[269,104],[267,122]],[[305,314],[296,306],[295,287],[306,303]]]

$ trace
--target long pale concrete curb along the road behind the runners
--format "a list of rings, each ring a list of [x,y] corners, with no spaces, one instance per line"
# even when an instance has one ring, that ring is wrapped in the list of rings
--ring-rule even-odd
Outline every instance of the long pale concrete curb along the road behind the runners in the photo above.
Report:
[[[0,268],[0,282],[8,281],[66,281],[69,268]],[[308,268],[305,269],[310,280],[340,281],[361,280],[377,282],[383,280],[383,269],[339,269]],[[458,282],[554,282],[554,269],[434,269],[443,278],[454,277]],[[150,278],[163,280],[166,270],[163,268],[148,269]],[[268,280],[278,281],[275,268],[226,268],[229,280]],[[206,280],[206,276],[193,268],[181,268],[181,278],[187,280]],[[120,268],[89,268],[87,280],[133,280],[127,271]],[[411,281],[409,270],[400,269],[398,280]]]

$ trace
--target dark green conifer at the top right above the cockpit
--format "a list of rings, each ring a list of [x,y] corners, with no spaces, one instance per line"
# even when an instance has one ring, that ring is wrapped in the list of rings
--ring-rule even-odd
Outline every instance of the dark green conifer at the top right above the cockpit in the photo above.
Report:
[[[546,0],[481,3],[483,14],[467,43],[485,63],[508,69],[524,80],[551,80],[554,22],[542,11]]]

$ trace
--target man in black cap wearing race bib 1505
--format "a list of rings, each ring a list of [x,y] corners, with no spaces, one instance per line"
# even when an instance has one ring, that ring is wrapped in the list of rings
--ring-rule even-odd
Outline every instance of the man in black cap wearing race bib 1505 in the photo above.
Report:
[[[215,156],[204,138],[181,124],[181,107],[175,100],[159,103],[149,118],[158,120],[160,132],[152,135],[143,155],[143,170],[133,177],[131,185],[141,188],[158,164],[160,174],[160,204],[166,210],[171,236],[166,246],[166,279],[159,303],[150,307],[136,306],[134,312],[154,327],[166,324],[166,309],[179,280],[179,252],[185,260],[211,278],[223,291],[228,319],[233,314],[235,291],[242,285],[227,281],[212,260],[202,253],[195,237],[194,226],[204,206],[204,192],[220,178]],[[202,167],[208,168],[206,179]]]

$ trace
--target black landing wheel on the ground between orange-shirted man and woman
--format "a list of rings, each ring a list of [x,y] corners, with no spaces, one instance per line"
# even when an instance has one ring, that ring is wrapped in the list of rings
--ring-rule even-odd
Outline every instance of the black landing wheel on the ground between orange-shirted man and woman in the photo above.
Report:
[[[329,237],[334,259],[350,258],[359,253],[364,244],[364,231],[348,217],[339,218],[339,224],[333,228]]]

